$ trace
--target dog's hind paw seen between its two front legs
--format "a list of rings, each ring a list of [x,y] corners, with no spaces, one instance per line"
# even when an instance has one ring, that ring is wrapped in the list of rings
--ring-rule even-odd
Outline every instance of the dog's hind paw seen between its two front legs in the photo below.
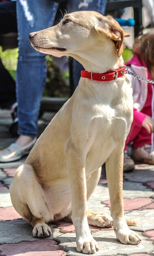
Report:
[[[96,227],[111,227],[113,226],[113,218],[104,214],[93,214],[88,218],[88,224]]]

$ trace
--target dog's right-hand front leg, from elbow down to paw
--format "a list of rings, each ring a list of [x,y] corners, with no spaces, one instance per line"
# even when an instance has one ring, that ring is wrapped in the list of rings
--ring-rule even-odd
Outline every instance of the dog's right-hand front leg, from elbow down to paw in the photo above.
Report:
[[[124,219],[123,200],[123,162],[124,153],[120,146],[116,148],[106,161],[106,175],[111,202],[111,216],[117,240],[124,244],[137,245],[140,239],[128,228]]]

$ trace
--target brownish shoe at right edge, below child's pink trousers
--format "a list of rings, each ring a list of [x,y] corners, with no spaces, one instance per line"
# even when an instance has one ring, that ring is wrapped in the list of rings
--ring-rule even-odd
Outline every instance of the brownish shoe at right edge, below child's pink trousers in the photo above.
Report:
[[[141,148],[132,149],[132,158],[135,162],[154,164],[154,150],[151,145],[145,144]]]

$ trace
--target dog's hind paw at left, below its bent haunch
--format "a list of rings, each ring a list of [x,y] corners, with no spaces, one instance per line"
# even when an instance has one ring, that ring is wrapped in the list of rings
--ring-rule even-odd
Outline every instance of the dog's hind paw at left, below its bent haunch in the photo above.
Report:
[[[38,238],[45,238],[51,236],[51,228],[47,224],[37,224],[33,228],[33,236]]]

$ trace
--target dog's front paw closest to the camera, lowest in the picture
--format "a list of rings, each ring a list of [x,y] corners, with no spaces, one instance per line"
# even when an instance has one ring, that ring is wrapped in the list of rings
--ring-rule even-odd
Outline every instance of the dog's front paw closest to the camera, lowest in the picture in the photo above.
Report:
[[[78,252],[83,252],[85,254],[96,253],[98,249],[98,245],[92,236],[79,238],[76,241],[76,249]]]

